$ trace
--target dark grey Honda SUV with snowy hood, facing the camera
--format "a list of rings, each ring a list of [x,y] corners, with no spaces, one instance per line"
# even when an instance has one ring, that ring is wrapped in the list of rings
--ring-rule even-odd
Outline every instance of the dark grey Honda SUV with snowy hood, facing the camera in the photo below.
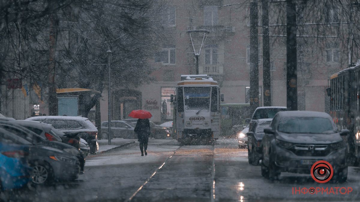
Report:
[[[282,111],[275,115],[262,138],[261,175],[277,179],[281,172],[310,173],[319,160],[334,168],[333,179],[347,179],[347,147],[331,116],[314,111]]]

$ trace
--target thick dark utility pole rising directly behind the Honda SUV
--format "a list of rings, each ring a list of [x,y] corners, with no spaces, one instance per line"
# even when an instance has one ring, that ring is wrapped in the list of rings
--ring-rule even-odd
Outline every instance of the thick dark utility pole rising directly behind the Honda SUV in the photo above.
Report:
[[[296,0],[286,0],[286,106],[297,110]]]

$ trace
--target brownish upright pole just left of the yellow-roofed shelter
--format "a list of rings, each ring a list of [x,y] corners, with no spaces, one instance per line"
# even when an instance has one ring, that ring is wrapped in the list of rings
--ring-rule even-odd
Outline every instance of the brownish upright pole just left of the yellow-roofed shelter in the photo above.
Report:
[[[54,14],[50,14],[50,47],[49,47],[49,115],[58,115],[57,97],[55,85],[55,52],[56,52],[57,23],[54,22]]]

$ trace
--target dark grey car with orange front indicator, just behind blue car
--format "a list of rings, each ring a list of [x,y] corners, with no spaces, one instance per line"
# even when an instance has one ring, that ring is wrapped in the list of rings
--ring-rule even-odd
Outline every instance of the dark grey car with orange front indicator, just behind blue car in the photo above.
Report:
[[[78,174],[84,169],[85,161],[82,164],[79,161],[84,157],[75,147],[57,141],[48,141],[14,121],[0,121],[0,128],[33,144],[30,148],[29,164],[34,168],[33,175],[39,175],[39,179],[32,179],[33,183],[42,184],[54,179],[77,179]],[[59,158],[56,157],[57,155]],[[49,158],[59,162],[50,161]],[[42,174],[44,176],[46,174],[45,180],[40,179]]]

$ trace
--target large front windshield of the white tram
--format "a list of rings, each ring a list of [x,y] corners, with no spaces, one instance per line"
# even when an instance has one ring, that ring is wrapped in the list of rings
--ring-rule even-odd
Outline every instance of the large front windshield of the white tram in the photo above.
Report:
[[[186,111],[209,111],[210,87],[184,87]]]

